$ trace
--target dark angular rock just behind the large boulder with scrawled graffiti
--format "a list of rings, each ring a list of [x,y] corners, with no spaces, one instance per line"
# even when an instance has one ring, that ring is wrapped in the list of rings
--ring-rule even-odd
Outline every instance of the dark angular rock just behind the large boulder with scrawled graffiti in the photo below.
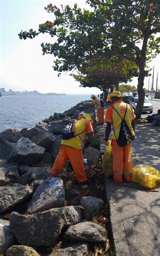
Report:
[[[55,138],[52,133],[41,132],[39,135],[32,138],[32,142],[36,145],[49,150],[54,142]]]

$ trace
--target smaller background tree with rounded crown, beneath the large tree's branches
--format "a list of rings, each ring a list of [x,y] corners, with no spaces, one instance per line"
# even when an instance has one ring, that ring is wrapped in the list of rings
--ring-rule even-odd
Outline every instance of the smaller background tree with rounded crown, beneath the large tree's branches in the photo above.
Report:
[[[115,84],[118,90],[119,82],[132,81],[132,77],[138,76],[138,67],[126,59],[114,57],[112,59],[91,59],[82,64],[74,78],[82,87],[97,87],[105,93],[107,99],[108,90]]]

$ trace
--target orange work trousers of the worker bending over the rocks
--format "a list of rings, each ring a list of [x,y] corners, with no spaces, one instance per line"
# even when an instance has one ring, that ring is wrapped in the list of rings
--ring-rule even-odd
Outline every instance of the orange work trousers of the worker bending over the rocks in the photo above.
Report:
[[[62,171],[64,164],[68,158],[72,164],[78,183],[85,182],[87,178],[84,175],[82,149],[76,149],[73,147],[68,147],[63,145],[60,145],[60,151],[55,159],[53,168],[51,170],[51,176],[54,177],[54,174]]]

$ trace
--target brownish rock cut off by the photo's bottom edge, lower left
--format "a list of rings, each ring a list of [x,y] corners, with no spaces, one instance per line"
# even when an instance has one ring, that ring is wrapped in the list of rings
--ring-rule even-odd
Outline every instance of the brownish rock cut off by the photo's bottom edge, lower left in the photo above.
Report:
[[[32,247],[14,245],[7,250],[6,256],[39,256],[39,254]]]

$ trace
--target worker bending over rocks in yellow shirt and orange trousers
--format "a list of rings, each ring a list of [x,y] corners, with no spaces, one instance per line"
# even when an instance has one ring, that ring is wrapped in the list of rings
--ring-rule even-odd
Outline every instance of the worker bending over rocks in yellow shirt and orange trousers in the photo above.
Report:
[[[62,139],[60,145],[60,151],[55,159],[53,168],[51,170],[51,177],[57,177],[58,172],[60,172],[66,160],[69,158],[73,170],[76,174],[78,183],[88,184],[89,179],[87,180],[84,174],[84,163],[83,163],[83,154],[82,154],[82,142],[85,137],[85,134],[88,134],[88,138],[84,141],[84,146],[87,146],[94,138],[94,130],[92,127],[93,120],[89,114],[84,113],[78,117],[79,120],[75,121],[75,137],[70,139]]]

